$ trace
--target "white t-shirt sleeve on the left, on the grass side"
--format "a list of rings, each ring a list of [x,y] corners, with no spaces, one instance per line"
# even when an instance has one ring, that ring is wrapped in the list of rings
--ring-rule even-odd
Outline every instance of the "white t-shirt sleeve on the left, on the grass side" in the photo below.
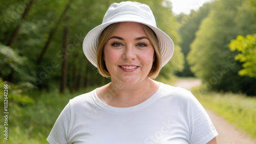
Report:
[[[68,143],[68,132],[70,126],[70,102],[59,114],[47,141],[51,144]]]

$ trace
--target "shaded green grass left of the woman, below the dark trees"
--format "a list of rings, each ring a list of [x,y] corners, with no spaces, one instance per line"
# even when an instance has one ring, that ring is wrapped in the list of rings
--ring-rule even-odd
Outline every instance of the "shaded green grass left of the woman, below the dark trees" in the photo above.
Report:
[[[66,94],[58,91],[35,91],[29,94],[34,99],[34,104],[26,106],[9,102],[8,140],[1,134],[0,143],[48,143],[46,138],[69,100],[94,88]],[[4,130],[4,125],[0,125],[0,129]]]

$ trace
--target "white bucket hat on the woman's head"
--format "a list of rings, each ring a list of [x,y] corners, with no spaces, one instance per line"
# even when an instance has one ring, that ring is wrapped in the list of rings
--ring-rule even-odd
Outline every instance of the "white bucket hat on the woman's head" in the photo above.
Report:
[[[112,23],[128,21],[142,23],[156,33],[163,67],[173,56],[174,43],[167,34],[157,28],[156,20],[150,7],[138,2],[114,3],[109,7],[102,24],[92,29],[83,40],[82,49],[87,59],[97,67],[96,53],[102,31]]]

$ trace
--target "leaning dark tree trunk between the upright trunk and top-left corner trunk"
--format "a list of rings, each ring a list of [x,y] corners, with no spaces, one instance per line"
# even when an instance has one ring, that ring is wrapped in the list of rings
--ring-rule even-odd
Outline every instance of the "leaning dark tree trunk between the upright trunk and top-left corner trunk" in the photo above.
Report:
[[[46,51],[47,51],[47,49],[48,49],[48,47],[49,47],[49,45],[50,45],[50,42],[51,42],[51,40],[52,40],[52,37],[53,37],[54,33],[56,32],[57,27],[59,26],[59,24],[60,24],[62,18],[65,16],[65,14],[67,13],[68,9],[70,8],[70,4],[71,4],[72,1],[73,1],[73,0],[70,0],[70,1],[68,2],[68,4],[66,5],[66,8],[62,11],[62,13],[61,13],[61,15],[60,15],[60,17],[59,17],[59,19],[58,19],[58,22],[56,23],[56,25],[55,25],[55,26],[52,28],[52,30],[50,31],[49,37],[48,37],[48,39],[47,39],[47,41],[46,41],[46,43],[45,43],[45,46],[44,46],[44,48],[42,49],[42,51],[41,51],[41,53],[40,53],[40,55],[39,55],[39,57],[38,57],[38,59],[37,59],[37,62],[36,62],[37,65],[41,63],[42,57],[44,57],[44,55],[45,55],[45,53],[46,53]]]

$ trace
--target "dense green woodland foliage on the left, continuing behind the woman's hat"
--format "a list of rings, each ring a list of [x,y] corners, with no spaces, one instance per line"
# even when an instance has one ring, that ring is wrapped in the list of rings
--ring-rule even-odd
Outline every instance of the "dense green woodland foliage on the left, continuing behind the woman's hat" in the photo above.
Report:
[[[86,34],[101,24],[104,13],[112,3],[122,1],[89,1],[72,0],[67,13],[59,25],[56,25],[69,0],[35,1],[28,12],[26,19],[22,19],[23,12],[29,1],[0,2],[0,33],[1,58],[0,77],[17,84],[29,82],[40,89],[55,89],[59,87],[61,78],[63,27],[68,26],[68,87],[70,91],[78,90],[88,85],[105,84],[109,79],[101,77],[95,68],[82,53],[82,41]],[[163,68],[160,75],[176,73],[183,68],[183,54],[180,50],[180,36],[175,29],[175,17],[168,1],[138,1],[149,5],[155,15],[158,27],[166,32],[175,43],[175,54],[172,60]],[[67,20],[65,20],[67,19]],[[20,25],[19,33],[11,47],[7,45],[14,29]],[[40,64],[36,64],[51,31],[55,31],[50,45]],[[7,52],[8,50],[8,52]],[[12,55],[9,58],[6,53]],[[14,72],[12,74],[12,71]]]

